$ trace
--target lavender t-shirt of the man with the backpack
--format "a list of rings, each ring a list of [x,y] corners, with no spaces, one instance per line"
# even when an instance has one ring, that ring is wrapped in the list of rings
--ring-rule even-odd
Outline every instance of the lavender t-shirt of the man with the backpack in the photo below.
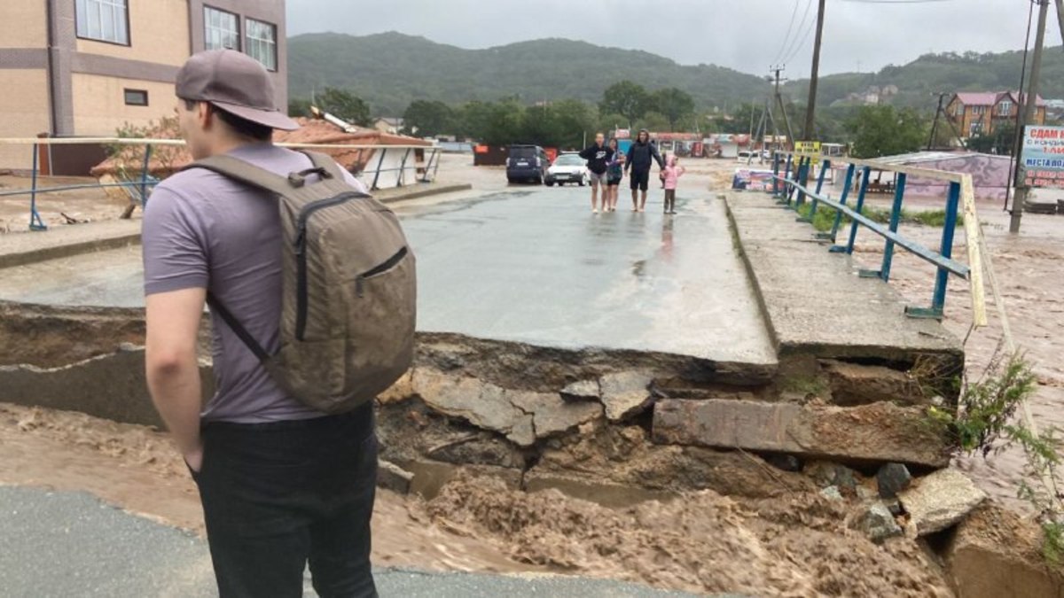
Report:
[[[266,144],[230,155],[282,176],[311,168],[302,153]],[[348,176],[360,190],[365,187]],[[279,349],[281,221],[277,199],[221,175],[178,172],[151,194],[144,214],[145,295],[210,288],[267,352]],[[287,396],[217,315],[216,392],[206,421],[261,423],[323,415]]]

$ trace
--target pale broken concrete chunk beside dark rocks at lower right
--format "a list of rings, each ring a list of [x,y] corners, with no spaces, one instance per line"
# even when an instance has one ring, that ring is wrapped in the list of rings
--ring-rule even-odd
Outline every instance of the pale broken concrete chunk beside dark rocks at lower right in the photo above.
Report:
[[[911,533],[916,536],[958,524],[985,498],[986,493],[952,468],[940,469],[898,495],[901,508],[909,514]]]

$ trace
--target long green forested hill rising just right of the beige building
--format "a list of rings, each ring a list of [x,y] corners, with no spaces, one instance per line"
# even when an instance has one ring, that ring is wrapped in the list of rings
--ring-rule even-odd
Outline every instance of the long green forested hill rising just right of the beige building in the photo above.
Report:
[[[762,79],[729,68],[681,66],[649,52],[570,39],[484,50],[400,33],[312,33],[288,39],[289,97],[340,87],[369,102],[373,114],[401,115],[416,99],[461,103],[516,96],[527,103],[567,98],[597,102],[606,87],[625,79],[650,90],[679,87],[701,109],[749,102],[767,89]]]

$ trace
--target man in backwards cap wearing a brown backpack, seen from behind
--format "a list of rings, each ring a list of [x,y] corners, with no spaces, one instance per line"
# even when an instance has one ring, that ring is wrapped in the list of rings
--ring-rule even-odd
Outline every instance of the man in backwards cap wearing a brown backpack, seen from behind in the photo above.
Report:
[[[412,359],[413,254],[395,215],[335,162],[272,145],[298,124],[256,61],[195,54],[176,90],[197,162],[145,211],[145,355],[199,486],[219,594],[301,596],[309,563],[318,595],[375,596],[372,399]]]

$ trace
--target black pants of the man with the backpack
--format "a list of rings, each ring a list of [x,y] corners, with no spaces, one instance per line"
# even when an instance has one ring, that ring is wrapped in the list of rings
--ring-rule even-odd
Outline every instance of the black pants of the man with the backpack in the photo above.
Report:
[[[301,421],[204,426],[195,479],[221,597],[302,596],[307,562],[323,598],[376,596],[376,478],[372,403]]]

